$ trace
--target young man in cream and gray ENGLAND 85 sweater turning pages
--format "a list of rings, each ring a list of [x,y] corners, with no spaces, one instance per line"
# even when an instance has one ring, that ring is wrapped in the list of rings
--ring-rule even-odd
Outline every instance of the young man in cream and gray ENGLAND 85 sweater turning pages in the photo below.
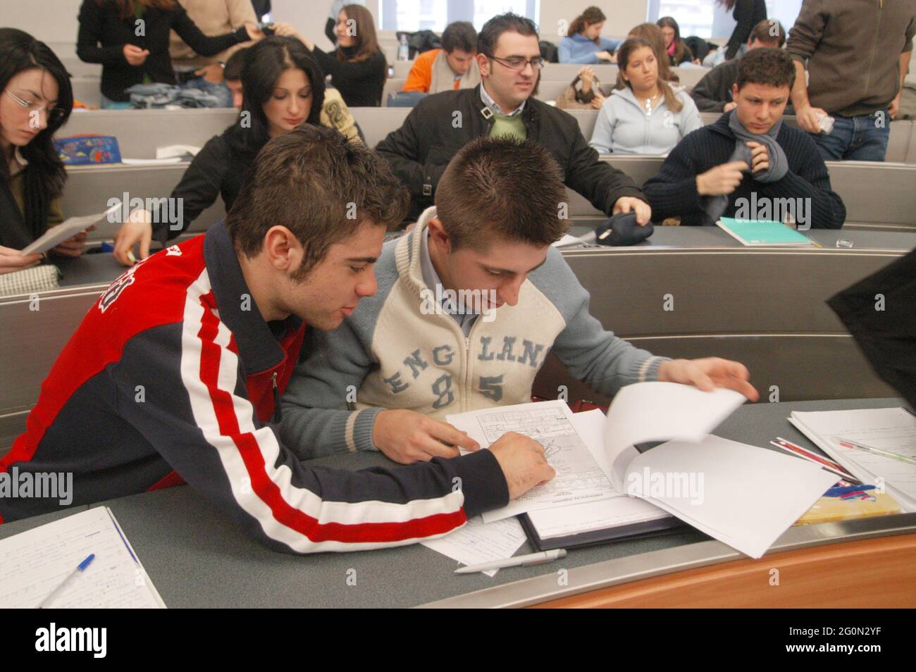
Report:
[[[376,295],[335,331],[309,331],[283,397],[281,435],[300,459],[381,450],[429,461],[478,446],[446,414],[530,401],[548,352],[602,394],[648,380],[756,400],[747,368],[638,350],[589,314],[588,292],[551,243],[569,222],[559,166],[516,137],[453,158],[436,205],[385,245]]]

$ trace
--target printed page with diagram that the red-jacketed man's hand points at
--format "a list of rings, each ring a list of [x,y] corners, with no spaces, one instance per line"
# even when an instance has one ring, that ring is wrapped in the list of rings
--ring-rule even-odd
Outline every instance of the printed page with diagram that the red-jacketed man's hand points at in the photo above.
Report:
[[[466,431],[482,448],[510,431],[540,441],[547,461],[557,471],[551,482],[532,488],[501,509],[485,513],[486,523],[539,508],[594,502],[619,494],[576,433],[573,413],[564,401],[483,408],[446,419]]]

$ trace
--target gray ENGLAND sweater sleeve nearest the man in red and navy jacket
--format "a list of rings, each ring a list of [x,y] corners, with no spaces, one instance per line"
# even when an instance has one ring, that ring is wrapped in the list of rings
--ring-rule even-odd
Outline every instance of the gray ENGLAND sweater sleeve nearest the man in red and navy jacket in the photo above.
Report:
[[[334,331],[310,329],[302,358],[283,394],[280,437],[300,460],[350,450],[377,450],[376,415],[384,408],[350,409],[372,361],[351,320]]]

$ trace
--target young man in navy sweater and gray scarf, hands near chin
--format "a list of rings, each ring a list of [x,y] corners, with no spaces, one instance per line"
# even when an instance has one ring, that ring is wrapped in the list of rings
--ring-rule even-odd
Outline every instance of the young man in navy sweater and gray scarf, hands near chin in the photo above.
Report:
[[[766,209],[776,211],[787,200],[803,200],[807,221],[798,223],[842,227],[845,205],[831,190],[811,136],[782,123],[794,81],[795,66],[782,49],[748,51],[732,90],[736,108],[687,135],[643,185],[653,221],[681,217],[682,225],[712,225],[747,203],[769,203]]]

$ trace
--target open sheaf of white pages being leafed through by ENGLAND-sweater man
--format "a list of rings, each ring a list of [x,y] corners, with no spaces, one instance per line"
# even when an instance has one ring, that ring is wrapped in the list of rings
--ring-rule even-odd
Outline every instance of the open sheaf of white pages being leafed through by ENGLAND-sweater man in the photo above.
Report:
[[[548,404],[565,406],[562,402],[489,408],[449,416],[448,421],[484,447],[510,430],[545,445],[557,478],[533,488],[499,515],[507,510],[508,515],[537,512],[533,518],[545,520],[541,510],[583,504],[577,508],[594,516],[605,500],[611,506],[615,497],[629,495],[759,558],[836,476],[811,462],[710,435],[744,401],[744,396],[721,388],[702,392],[673,383],[627,385],[611,404],[601,445],[585,450],[574,440],[583,439],[577,433],[573,439],[565,428],[572,422],[540,411]],[[635,448],[658,440],[666,442],[643,453]],[[583,453],[592,460],[585,460]],[[605,481],[594,476],[593,465]],[[552,505],[542,504],[544,495]],[[552,525],[562,525],[563,515],[575,512],[557,512]]]

